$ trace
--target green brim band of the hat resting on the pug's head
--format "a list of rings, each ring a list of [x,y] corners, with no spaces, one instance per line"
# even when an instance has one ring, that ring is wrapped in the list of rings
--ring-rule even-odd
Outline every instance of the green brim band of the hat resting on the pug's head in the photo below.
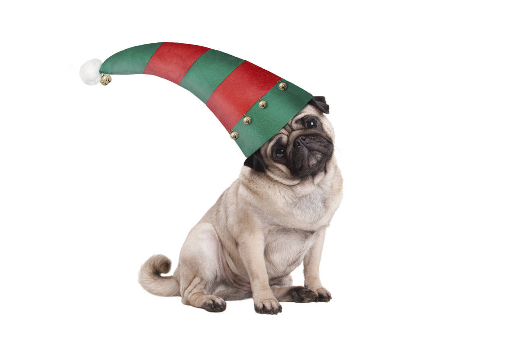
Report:
[[[251,117],[252,123],[246,125],[243,118],[234,125],[233,130],[238,133],[236,144],[245,157],[252,155],[266,143],[280,129],[287,124],[294,115],[305,107],[312,95],[285,79],[286,90],[278,88],[279,83],[273,86],[261,99],[267,102],[267,107],[259,108],[258,102],[245,115]]]

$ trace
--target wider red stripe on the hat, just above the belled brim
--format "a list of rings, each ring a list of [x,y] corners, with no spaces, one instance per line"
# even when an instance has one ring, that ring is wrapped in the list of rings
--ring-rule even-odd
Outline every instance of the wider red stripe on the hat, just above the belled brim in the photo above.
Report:
[[[244,61],[214,90],[207,107],[229,131],[278,80],[279,76]]]

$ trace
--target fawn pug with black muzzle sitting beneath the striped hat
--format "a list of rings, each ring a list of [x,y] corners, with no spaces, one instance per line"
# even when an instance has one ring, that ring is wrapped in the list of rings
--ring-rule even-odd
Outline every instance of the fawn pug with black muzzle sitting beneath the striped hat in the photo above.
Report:
[[[211,312],[225,300],[252,297],[258,313],[280,302],[329,301],[320,281],[325,229],[342,199],[333,156],[334,130],[324,97],[313,97],[249,156],[240,177],[192,228],[173,275],[164,255],[141,267],[139,282],[155,295]],[[303,262],[304,286],[290,273]]]

